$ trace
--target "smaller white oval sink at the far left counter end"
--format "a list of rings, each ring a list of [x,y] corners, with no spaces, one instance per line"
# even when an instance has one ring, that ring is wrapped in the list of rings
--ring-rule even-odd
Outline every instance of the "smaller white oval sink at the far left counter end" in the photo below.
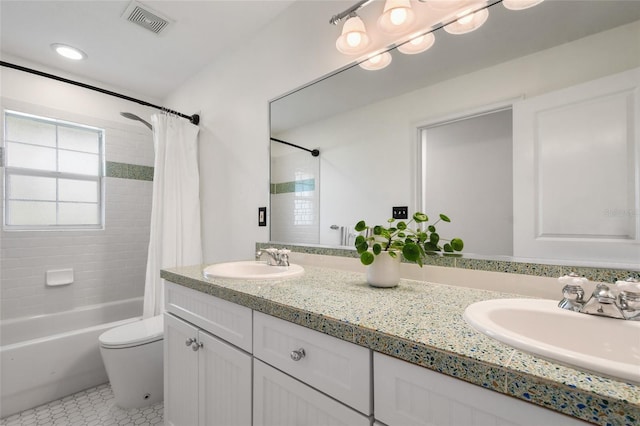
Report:
[[[205,278],[237,278],[245,280],[275,280],[298,277],[304,274],[300,265],[271,266],[267,262],[244,260],[239,262],[215,263],[202,271]]]

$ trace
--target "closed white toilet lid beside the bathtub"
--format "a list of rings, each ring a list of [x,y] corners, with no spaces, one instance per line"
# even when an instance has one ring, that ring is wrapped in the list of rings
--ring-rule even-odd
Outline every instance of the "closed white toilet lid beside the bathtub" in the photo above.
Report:
[[[112,328],[102,333],[98,340],[104,348],[128,348],[162,339],[164,332],[162,315]]]

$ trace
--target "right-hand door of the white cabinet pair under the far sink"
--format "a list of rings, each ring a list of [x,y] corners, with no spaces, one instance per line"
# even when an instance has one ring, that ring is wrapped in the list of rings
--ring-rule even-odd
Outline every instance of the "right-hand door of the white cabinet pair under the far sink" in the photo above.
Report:
[[[200,425],[251,425],[251,357],[199,332]]]

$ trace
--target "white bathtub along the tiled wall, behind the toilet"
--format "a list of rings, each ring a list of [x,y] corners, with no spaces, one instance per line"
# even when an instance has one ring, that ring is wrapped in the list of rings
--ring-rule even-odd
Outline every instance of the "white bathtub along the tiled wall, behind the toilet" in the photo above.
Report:
[[[0,321],[0,418],[106,383],[98,336],[141,315],[140,297]]]

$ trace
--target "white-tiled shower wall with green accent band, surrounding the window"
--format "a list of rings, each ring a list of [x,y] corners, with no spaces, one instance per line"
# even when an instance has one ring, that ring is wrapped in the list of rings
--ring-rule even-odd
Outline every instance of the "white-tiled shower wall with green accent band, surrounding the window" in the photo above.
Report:
[[[142,296],[151,218],[151,132],[142,125],[2,102],[3,108],[105,129],[106,177],[103,230],[0,231],[0,319]],[[45,286],[47,270],[66,268],[74,270],[72,284]]]

